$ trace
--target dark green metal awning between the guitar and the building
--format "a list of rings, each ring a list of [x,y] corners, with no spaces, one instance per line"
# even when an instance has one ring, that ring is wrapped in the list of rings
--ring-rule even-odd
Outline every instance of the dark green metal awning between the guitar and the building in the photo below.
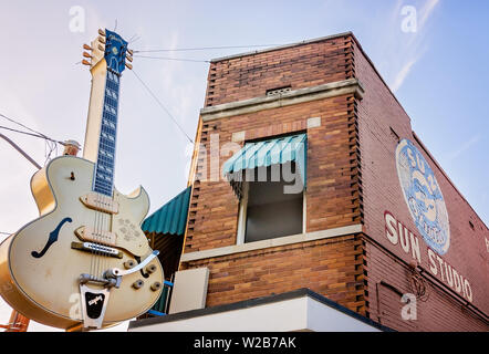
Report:
[[[183,236],[187,225],[190,190],[191,187],[186,188],[178,196],[147,217],[141,227],[143,231]]]

